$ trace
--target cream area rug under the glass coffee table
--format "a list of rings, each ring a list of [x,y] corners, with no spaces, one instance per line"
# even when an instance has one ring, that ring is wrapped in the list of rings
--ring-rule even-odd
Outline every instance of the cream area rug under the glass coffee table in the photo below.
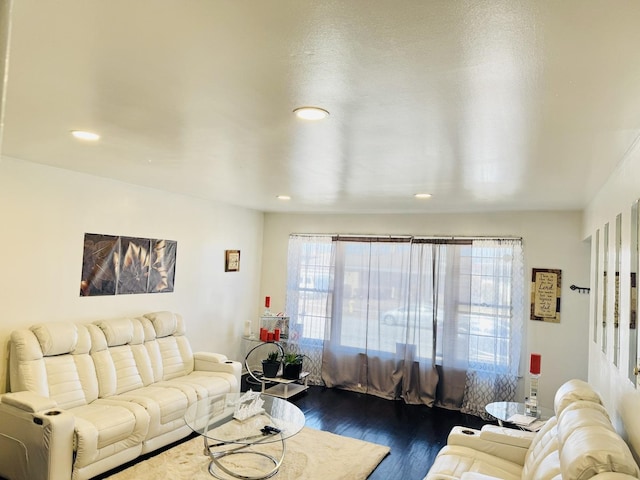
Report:
[[[264,444],[278,451],[280,444]],[[277,480],[364,480],[389,453],[389,447],[304,427],[286,440],[287,452]],[[255,455],[231,455],[234,462],[252,472]],[[203,453],[202,438],[193,438],[149,460],[140,462],[107,480],[211,480],[209,457]]]

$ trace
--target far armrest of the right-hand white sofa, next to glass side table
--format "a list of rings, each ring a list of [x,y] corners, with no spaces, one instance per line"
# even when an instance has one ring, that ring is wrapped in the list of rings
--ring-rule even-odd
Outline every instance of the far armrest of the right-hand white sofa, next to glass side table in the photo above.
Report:
[[[494,457],[517,463],[518,465],[524,465],[524,459],[531,443],[531,439],[527,441],[527,438],[533,437],[533,435],[530,435],[531,432],[513,430],[513,432],[527,434],[524,435],[524,438],[519,438],[519,433],[505,433],[500,435],[499,431],[493,428],[487,429],[487,427],[489,427],[489,425],[482,427],[482,430],[459,426],[453,427],[451,432],[449,432],[447,444],[472,448],[479,452],[488,453]],[[493,426],[491,425],[491,427]],[[499,429],[501,427],[495,428]]]

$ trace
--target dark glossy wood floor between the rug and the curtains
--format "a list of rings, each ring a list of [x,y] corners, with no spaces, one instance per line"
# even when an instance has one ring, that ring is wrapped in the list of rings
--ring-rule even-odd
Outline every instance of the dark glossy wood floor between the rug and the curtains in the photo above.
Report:
[[[310,387],[292,401],[308,427],[389,446],[391,453],[371,480],[422,480],[453,426],[487,423],[456,411],[324,387]]]

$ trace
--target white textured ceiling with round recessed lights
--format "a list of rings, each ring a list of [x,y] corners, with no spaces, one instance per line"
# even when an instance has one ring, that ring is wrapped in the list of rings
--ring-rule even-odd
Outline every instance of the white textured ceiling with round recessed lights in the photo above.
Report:
[[[581,209],[640,134],[637,1],[19,0],[10,27],[2,155],[264,211]]]

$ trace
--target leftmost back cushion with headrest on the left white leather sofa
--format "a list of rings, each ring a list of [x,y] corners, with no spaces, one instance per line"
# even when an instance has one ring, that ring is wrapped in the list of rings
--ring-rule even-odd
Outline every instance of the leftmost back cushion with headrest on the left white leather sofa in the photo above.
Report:
[[[12,391],[27,390],[54,400],[60,408],[92,402],[98,382],[89,355],[85,325],[51,322],[11,334]]]

